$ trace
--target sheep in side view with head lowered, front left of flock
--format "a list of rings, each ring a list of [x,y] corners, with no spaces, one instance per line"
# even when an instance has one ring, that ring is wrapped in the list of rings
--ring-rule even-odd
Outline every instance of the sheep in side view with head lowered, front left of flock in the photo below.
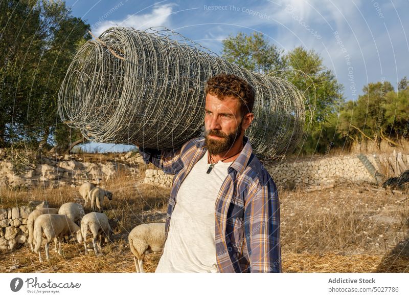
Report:
[[[38,252],[40,262],[41,259],[41,242],[42,238],[46,238],[47,243],[45,246],[47,261],[50,260],[49,256],[49,246],[53,238],[58,240],[58,254],[61,254],[61,241],[64,236],[69,236],[71,234],[76,235],[79,244],[82,243],[81,229],[77,226],[71,219],[66,215],[61,214],[43,214],[40,215],[34,222],[34,240],[35,247],[34,251]],[[57,249],[54,249],[57,251]]]

